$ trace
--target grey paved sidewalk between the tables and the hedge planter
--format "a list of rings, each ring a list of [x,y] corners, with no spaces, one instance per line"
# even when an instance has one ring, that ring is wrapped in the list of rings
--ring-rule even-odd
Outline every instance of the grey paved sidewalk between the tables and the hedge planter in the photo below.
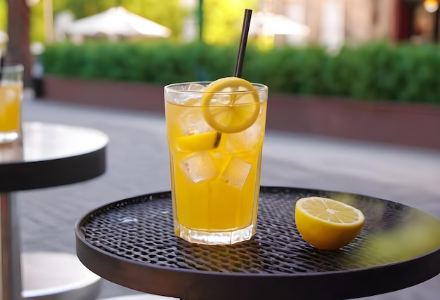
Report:
[[[23,120],[96,128],[110,137],[105,175],[18,193],[24,251],[75,253],[73,228],[86,212],[122,198],[170,189],[162,115],[26,97]],[[440,151],[435,150],[268,130],[261,184],[361,193],[440,218]],[[432,300],[439,293],[437,275],[415,287],[368,299]],[[138,292],[104,281],[100,298],[127,294]]]

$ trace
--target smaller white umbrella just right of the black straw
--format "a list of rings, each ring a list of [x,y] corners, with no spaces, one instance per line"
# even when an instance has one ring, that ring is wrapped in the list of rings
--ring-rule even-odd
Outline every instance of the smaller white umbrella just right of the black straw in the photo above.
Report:
[[[309,32],[309,27],[290,20],[285,15],[261,11],[252,15],[249,28],[249,34],[254,36],[273,36],[274,34],[306,36]]]

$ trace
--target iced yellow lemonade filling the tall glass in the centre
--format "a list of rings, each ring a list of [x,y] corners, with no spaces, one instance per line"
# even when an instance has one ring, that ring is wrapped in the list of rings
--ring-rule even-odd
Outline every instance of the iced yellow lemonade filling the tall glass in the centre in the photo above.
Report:
[[[165,95],[176,235],[205,244],[237,243],[243,235],[249,239],[257,221],[267,90],[255,101],[226,106],[239,116],[220,125],[224,132],[216,124],[223,104],[202,105],[198,95],[188,96],[179,102]]]

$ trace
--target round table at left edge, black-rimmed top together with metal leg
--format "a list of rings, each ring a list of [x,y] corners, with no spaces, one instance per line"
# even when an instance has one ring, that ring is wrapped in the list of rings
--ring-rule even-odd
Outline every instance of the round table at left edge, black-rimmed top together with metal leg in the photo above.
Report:
[[[22,140],[0,144],[0,300],[22,297],[20,229],[14,192],[72,184],[102,175],[107,144],[107,135],[98,130],[40,122],[24,123]]]

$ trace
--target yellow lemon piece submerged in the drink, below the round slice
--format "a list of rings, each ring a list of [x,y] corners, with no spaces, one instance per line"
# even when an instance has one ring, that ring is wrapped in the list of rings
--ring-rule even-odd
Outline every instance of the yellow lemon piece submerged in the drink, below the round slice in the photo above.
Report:
[[[219,146],[220,136],[219,132],[205,132],[178,137],[176,142],[177,146],[183,151],[207,151]]]

